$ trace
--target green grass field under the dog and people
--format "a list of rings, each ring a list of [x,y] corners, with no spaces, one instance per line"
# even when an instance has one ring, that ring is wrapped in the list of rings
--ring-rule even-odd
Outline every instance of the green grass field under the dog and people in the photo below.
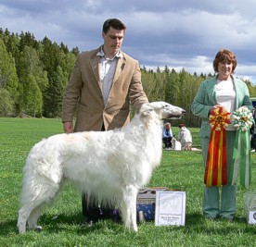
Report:
[[[191,129],[194,146],[200,146],[198,129]],[[0,118],[0,245],[1,246],[256,246],[256,226],[247,223],[244,188],[238,185],[237,215],[233,222],[207,220],[201,215],[203,165],[201,153],[164,151],[150,186],[186,191],[186,226],[155,227],[139,224],[137,234],[111,220],[83,227],[81,195],[65,187],[58,202],[40,217],[41,232],[18,234],[19,191],[22,168],[32,145],[62,132],[59,119]],[[178,129],[173,128],[177,135]],[[256,154],[252,153],[252,184],[255,190]]]

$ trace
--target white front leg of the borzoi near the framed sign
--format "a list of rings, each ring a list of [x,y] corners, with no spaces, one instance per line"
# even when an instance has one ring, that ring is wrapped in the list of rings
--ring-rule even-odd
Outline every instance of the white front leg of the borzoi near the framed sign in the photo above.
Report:
[[[137,190],[134,188],[134,186],[127,186],[126,189],[122,191],[122,193],[121,212],[124,225],[126,228],[133,229],[136,232]]]

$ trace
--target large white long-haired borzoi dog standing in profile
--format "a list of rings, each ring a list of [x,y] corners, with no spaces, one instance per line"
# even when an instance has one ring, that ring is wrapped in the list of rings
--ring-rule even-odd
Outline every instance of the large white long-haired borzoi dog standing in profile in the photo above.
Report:
[[[24,167],[19,233],[37,226],[46,204],[66,181],[96,198],[115,204],[126,228],[137,231],[136,196],[160,165],[163,118],[185,110],[165,102],[142,105],[122,130],[85,131],[51,136],[32,147]]]

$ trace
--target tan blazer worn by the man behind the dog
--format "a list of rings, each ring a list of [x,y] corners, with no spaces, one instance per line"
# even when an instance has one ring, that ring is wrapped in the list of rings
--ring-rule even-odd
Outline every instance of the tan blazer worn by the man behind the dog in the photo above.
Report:
[[[148,103],[138,61],[122,52],[108,103],[104,105],[99,56],[96,56],[99,50],[100,47],[77,57],[64,94],[62,122],[75,117],[75,131],[101,130],[103,124],[106,130],[122,128],[130,121],[130,103],[136,109]]]

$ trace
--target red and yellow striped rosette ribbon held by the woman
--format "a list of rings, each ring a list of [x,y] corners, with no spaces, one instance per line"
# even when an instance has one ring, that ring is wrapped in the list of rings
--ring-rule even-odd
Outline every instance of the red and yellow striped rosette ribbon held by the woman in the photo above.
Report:
[[[211,125],[211,137],[208,146],[204,183],[207,187],[222,186],[227,183],[225,129],[228,124],[231,124],[230,112],[227,112],[224,107],[217,107],[211,110],[209,123]]]

